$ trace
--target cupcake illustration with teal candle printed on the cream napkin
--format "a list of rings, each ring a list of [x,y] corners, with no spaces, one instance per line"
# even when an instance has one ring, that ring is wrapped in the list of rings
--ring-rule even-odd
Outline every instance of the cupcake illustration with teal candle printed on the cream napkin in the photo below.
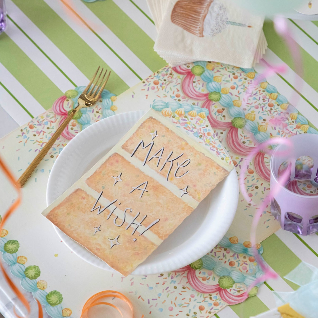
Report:
[[[218,0],[179,0],[172,9],[171,22],[198,37],[213,37],[228,24],[252,27],[228,21],[226,8]]]

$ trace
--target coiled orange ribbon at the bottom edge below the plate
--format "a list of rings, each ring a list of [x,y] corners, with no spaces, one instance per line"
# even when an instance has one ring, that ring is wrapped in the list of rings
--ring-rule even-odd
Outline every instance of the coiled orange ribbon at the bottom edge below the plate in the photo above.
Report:
[[[133,318],[134,308],[133,308],[131,301],[125,295],[123,295],[119,292],[116,292],[115,290],[104,290],[102,292],[99,292],[99,293],[93,295],[90,299],[88,299],[88,301],[86,301],[86,303],[82,309],[82,313],[80,315],[80,318],[88,318],[88,310],[94,306],[97,306],[97,305],[111,306],[111,307],[115,308],[121,314],[121,317],[124,317],[121,310],[117,306],[115,306],[114,304],[111,304],[109,302],[100,301],[100,299],[106,298],[106,297],[115,297],[115,298],[121,299],[126,304],[128,304],[131,316],[125,317],[125,318]],[[144,315],[142,315],[141,318],[144,318]]]

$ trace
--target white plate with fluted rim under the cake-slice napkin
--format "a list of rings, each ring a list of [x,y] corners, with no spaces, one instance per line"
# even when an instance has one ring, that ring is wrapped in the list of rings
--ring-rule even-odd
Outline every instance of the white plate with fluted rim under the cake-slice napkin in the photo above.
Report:
[[[105,118],[76,135],[53,165],[46,203],[51,204],[102,158],[145,111],[122,113]],[[209,252],[223,238],[234,218],[239,197],[235,169],[198,205],[176,230],[154,251],[134,275],[173,271]],[[80,258],[113,271],[105,262],[55,227],[60,239]]]

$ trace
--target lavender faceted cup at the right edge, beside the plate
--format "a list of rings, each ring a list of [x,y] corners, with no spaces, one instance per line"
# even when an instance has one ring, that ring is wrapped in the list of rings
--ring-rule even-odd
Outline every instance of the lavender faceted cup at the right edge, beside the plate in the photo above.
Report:
[[[270,162],[272,192],[271,211],[282,229],[301,235],[318,232],[318,195],[300,194],[287,189],[293,180],[310,180],[317,186],[318,135],[300,134],[280,144]],[[288,171],[288,172],[287,172]],[[284,185],[278,182],[283,172],[290,177]]]

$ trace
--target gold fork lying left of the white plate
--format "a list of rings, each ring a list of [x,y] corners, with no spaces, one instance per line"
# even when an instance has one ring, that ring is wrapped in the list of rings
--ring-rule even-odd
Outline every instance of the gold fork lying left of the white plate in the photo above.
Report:
[[[65,121],[63,121],[61,126],[59,126],[59,128],[56,130],[56,132],[50,138],[50,140],[45,144],[45,146],[42,148],[42,150],[33,159],[31,164],[29,165],[29,167],[24,171],[22,176],[20,176],[19,180],[17,181],[17,183],[18,183],[20,188],[22,188],[24,186],[24,183],[26,183],[26,181],[29,179],[29,177],[31,176],[32,172],[35,170],[35,168],[38,166],[40,161],[44,158],[44,156],[51,149],[51,147],[53,146],[54,142],[56,142],[56,140],[59,138],[59,136],[61,135],[61,133],[63,132],[65,127],[69,124],[69,122],[72,120],[74,115],[77,112],[79,112],[79,110],[81,108],[92,106],[98,100],[101,92],[103,91],[103,89],[104,89],[104,87],[105,87],[105,85],[106,85],[106,83],[107,83],[107,81],[109,79],[109,75],[110,75],[110,72],[109,72],[107,77],[106,77],[106,79],[105,79],[105,76],[107,74],[107,70],[106,70],[104,75],[103,75],[103,77],[102,77],[102,79],[100,79],[100,77],[101,77],[101,75],[103,73],[103,70],[104,70],[102,68],[100,73],[99,73],[99,75],[98,75],[98,78],[95,81],[95,78],[96,78],[96,75],[97,75],[99,69],[100,69],[100,66],[98,67],[97,71],[95,72],[92,80],[89,82],[89,84],[84,89],[84,92],[81,93],[81,95],[79,96],[79,99],[77,100],[78,101],[78,105],[72,110],[72,112],[70,112],[70,114],[68,114],[68,116],[66,117]],[[105,81],[104,81],[104,79],[105,79]],[[93,86],[91,87],[92,84],[93,84]],[[89,90],[90,87],[91,87],[91,89]],[[94,90],[95,87],[96,87],[96,89]]]

